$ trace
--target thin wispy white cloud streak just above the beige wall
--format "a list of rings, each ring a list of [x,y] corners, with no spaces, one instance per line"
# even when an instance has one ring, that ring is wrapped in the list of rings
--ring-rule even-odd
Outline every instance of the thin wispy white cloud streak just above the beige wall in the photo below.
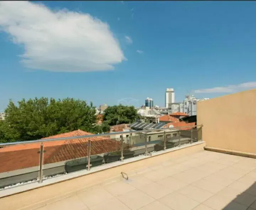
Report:
[[[228,85],[226,87],[214,87],[208,89],[195,90],[195,93],[233,93],[249,88],[256,88],[256,82],[245,82],[239,85]]]

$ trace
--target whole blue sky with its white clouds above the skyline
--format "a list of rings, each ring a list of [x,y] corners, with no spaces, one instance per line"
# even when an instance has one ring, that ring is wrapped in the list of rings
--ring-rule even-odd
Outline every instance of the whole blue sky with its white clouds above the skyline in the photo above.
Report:
[[[166,88],[176,101],[255,88],[255,10],[253,1],[1,2],[0,110],[10,98],[164,106]]]

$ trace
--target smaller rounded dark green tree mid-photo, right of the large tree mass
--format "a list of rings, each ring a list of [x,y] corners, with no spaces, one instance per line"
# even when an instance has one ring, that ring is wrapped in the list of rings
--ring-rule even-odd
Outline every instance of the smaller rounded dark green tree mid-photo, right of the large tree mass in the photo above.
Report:
[[[104,111],[104,120],[109,125],[132,123],[137,118],[138,114],[134,106],[109,106]]]

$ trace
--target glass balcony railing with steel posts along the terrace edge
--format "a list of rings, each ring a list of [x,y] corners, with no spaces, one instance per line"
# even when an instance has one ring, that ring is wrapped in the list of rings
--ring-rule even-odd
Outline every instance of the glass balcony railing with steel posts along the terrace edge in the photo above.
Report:
[[[0,190],[202,140],[202,125],[0,144]]]

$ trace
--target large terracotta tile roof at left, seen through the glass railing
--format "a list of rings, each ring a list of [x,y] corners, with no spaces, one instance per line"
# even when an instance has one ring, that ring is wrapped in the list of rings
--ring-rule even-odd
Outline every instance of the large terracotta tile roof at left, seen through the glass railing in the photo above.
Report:
[[[82,130],[50,136],[49,138],[62,138],[72,136],[92,135]],[[59,161],[71,160],[74,158],[86,157],[88,151],[88,139],[73,139],[44,142],[44,164]],[[121,148],[121,143],[110,139],[109,136],[99,136],[91,139],[91,155],[117,151]],[[14,171],[39,165],[40,143],[16,145],[0,148],[0,173]]]

